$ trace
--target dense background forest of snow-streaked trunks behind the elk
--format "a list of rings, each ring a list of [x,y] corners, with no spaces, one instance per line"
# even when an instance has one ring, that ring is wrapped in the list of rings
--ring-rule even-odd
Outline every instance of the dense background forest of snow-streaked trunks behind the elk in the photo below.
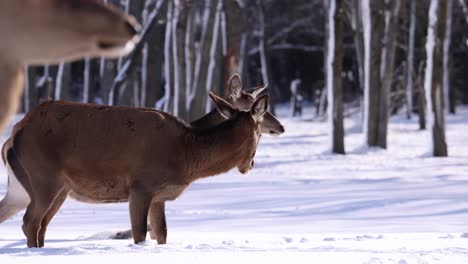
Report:
[[[406,112],[446,156],[444,116],[468,103],[463,0],[109,2],[144,25],[142,43],[118,60],[29,67],[24,111],[62,99],[194,120],[238,73],[268,85],[273,113],[292,102],[291,114],[333,117],[333,152],[345,153],[344,116],[362,111],[367,144],[386,148],[388,117]]]

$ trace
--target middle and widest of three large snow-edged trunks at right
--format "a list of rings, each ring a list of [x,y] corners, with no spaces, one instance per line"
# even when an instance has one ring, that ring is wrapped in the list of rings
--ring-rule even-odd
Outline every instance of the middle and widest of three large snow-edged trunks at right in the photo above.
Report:
[[[364,129],[367,145],[385,148],[386,144],[379,138],[381,120],[379,113],[382,107],[382,37],[384,0],[364,0],[362,2],[365,49],[365,89],[364,89]]]

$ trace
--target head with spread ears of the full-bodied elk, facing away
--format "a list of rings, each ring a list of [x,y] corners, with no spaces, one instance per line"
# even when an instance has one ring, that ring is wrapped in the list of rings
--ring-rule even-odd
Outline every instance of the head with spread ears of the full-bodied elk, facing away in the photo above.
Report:
[[[244,157],[237,166],[240,173],[248,173],[254,166],[254,157],[257,150],[258,143],[260,141],[261,131],[260,126],[264,120],[265,113],[268,110],[268,95],[263,95],[257,98],[252,107],[247,111],[242,111],[234,108],[229,102],[216,96],[214,93],[210,93],[211,100],[216,106],[218,112],[226,119],[236,118],[237,115],[248,115],[250,123],[253,124],[252,135],[245,144],[248,145],[248,149],[243,151]]]

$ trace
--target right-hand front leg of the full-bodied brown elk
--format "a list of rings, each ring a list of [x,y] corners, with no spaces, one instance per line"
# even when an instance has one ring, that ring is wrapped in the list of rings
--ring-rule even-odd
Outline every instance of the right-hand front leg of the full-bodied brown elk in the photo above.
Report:
[[[149,210],[149,220],[151,225],[151,239],[156,239],[158,244],[166,244],[167,225],[164,202],[153,202]]]

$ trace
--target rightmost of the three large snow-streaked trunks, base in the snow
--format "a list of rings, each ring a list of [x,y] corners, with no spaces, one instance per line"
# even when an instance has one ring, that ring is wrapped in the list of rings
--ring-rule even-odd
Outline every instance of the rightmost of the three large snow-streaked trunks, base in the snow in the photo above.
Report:
[[[443,39],[445,36],[446,1],[431,0],[426,42],[426,93],[427,121],[435,157],[447,156],[445,142],[445,116],[443,97]]]

